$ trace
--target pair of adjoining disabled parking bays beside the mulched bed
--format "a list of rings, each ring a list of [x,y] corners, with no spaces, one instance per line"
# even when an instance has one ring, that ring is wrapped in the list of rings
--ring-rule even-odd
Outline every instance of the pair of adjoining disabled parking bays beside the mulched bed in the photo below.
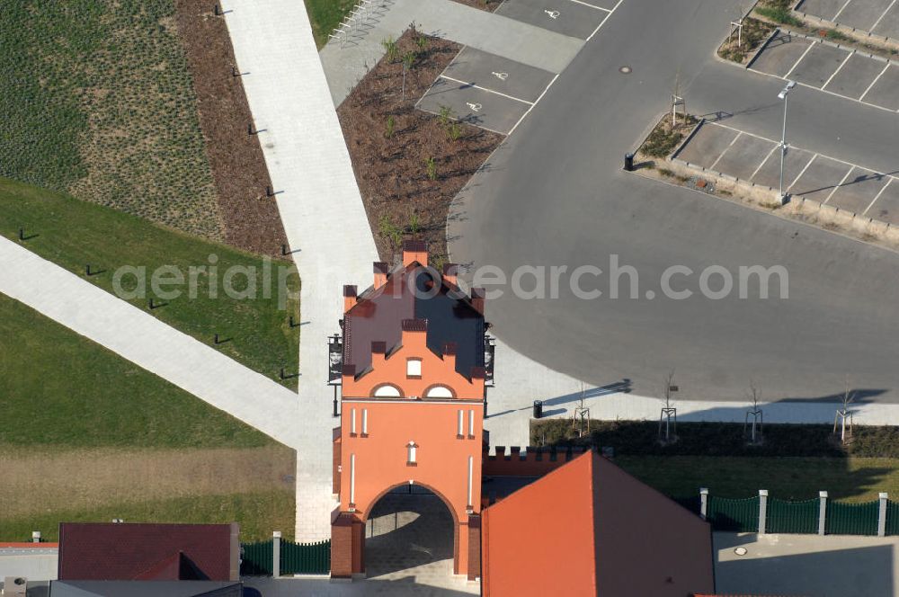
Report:
[[[418,101],[419,110],[508,135],[539,100],[556,75],[478,49],[465,48]]]

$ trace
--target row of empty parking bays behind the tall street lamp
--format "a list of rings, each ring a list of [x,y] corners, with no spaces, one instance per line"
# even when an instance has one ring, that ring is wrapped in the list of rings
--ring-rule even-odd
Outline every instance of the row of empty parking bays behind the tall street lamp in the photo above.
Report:
[[[739,180],[779,187],[779,142],[722,124],[704,122],[675,157]],[[899,225],[899,180],[891,174],[788,147],[784,188],[793,197]]]

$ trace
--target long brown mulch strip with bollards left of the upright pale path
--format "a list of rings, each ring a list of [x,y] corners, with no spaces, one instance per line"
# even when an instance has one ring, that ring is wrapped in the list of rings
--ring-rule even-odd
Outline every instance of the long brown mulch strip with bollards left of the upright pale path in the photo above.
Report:
[[[177,29],[197,94],[200,128],[225,223],[225,241],[258,254],[280,255],[287,243],[259,138],[223,17],[200,0],[177,0]]]

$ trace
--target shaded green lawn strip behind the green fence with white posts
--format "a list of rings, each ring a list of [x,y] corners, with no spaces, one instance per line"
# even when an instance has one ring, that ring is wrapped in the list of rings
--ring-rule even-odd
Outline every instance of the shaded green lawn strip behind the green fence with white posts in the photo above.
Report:
[[[899,495],[899,459],[620,456],[615,462],[663,494],[751,497],[767,489],[779,499],[806,500],[825,490],[834,500],[868,502]]]

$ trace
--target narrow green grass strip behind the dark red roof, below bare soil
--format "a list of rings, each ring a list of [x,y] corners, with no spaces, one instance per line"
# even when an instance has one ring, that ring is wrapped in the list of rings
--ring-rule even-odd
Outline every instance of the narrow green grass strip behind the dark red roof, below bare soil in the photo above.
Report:
[[[179,497],[141,503],[114,503],[91,511],[46,512],[21,519],[0,517],[0,539],[31,540],[40,530],[43,539],[59,539],[59,522],[98,522],[120,518],[126,522],[240,523],[241,541],[271,539],[272,530],[294,536],[294,495],[284,491],[254,494]]]

